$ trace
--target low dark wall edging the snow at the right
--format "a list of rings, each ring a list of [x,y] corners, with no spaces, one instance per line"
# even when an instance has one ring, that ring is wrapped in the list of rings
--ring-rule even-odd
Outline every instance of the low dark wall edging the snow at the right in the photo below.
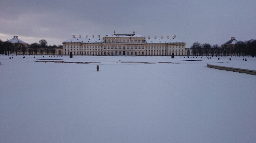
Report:
[[[250,70],[250,69],[242,69],[242,68],[234,68],[234,67],[226,67],[226,66],[215,66],[215,65],[209,65],[209,64],[207,64],[207,67],[220,69],[220,70],[227,70],[232,72],[238,72],[238,73],[245,73],[250,75],[256,75],[256,70]]]

